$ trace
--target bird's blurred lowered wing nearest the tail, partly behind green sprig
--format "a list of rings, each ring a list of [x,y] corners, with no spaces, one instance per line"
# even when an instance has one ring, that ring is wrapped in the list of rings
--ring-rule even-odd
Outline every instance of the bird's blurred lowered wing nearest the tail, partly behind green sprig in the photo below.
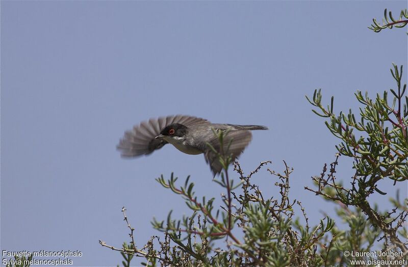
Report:
[[[241,130],[241,131],[231,131],[226,132],[223,139],[223,152],[224,155],[231,155],[232,161],[234,161],[245,149],[248,143],[252,139],[252,134],[250,131]],[[228,144],[231,145],[228,149]],[[209,142],[216,151],[221,152],[221,145],[216,136]],[[214,175],[220,173],[222,170],[222,165],[217,158],[217,155],[208,147],[204,149],[204,156],[208,164],[210,164],[211,170]]]

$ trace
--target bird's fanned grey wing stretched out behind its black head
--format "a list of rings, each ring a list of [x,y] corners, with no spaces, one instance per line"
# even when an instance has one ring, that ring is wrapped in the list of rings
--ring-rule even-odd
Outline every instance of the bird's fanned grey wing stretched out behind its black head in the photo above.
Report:
[[[163,139],[155,139],[167,125],[180,123],[187,127],[210,123],[209,121],[187,115],[172,115],[167,117],[150,118],[148,122],[136,125],[132,130],[126,131],[116,148],[122,157],[137,157],[148,155],[155,150],[161,149],[167,142]]]

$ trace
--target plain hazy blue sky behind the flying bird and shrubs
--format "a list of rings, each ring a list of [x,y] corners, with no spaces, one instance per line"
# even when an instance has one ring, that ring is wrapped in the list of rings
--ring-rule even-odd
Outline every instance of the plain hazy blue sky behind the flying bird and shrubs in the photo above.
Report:
[[[311,222],[334,216],[333,204],[303,189],[338,142],[304,95],[322,88],[337,112],[358,113],[356,90],[375,97],[395,87],[389,68],[406,74],[406,28],[367,28],[385,8],[396,17],[406,2],[2,1],[2,249],[80,250],[75,266],[116,265],[120,254],[98,240],[129,241],[122,206],[138,246],[159,234],[152,217],[189,214],[156,177],[190,174],[197,195],[219,197],[202,155],[167,145],[123,160],[115,150],[133,125],[179,113],[268,126],[253,132],[241,166],[272,160],[282,171],[285,160],[290,196]],[[340,159],[345,183],[350,164]],[[266,168],[254,182],[277,194]],[[390,194],[370,200],[386,209],[396,188],[383,186]]]

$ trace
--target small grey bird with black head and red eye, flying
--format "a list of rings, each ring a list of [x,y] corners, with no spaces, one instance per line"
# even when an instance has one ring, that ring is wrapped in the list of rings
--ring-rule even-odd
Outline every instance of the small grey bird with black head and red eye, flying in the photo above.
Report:
[[[204,154],[206,162],[215,175],[222,171],[222,165],[208,144],[221,152],[221,145],[214,131],[223,131],[223,150],[231,155],[232,162],[244,151],[252,139],[251,130],[269,130],[261,125],[213,124],[200,117],[189,115],[170,115],[140,123],[132,130],[125,131],[117,150],[124,158],[149,155],[172,144],[177,150],[189,154]],[[228,148],[228,145],[230,147]]]

